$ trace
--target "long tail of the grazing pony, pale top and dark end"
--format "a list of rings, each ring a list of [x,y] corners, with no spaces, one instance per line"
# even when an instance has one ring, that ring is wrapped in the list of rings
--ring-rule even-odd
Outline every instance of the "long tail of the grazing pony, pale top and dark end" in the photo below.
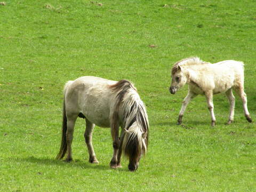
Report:
[[[66,132],[67,132],[67,116],[66,116],[66,107],[65,107],[65,95],[68,86],[72,83],[73,81],[68,81],[65,86],[64,86],[64,99],[63,99],[63,110],[62,110],[62,137],[61,137],[61,146],[60,146],[60,151],[59,154],[56,156],[56,159],[62,159],[66,152],[67,152],[67,138],[66,138]]]

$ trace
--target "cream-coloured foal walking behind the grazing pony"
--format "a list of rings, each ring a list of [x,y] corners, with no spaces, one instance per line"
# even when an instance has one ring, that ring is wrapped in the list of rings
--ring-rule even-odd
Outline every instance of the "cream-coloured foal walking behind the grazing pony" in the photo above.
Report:
[[[178,125],[191,99],[198,94],[205,95],[211,114],[211,125],[216,119],[213,111],[213,94],[225,93],[230,103],[230,114],[227,124],[234,122],[235,97],[233,89],[243,101],[244,115],[252,122],[247,109],[247,98],[244,92],[244,63],[241,61],[225,60],[217,63],[204,62],[198,57],[186,58],[174,63],[171,71],[172,82],[170,93],[175,94],[183,85],[188,84],[188,94],[183,100],[179,112]]]

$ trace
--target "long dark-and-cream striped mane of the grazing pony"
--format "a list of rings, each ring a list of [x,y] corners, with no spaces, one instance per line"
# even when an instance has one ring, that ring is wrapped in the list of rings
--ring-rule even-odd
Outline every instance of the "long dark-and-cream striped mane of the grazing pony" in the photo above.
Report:
[[[141,101],[137,89],[127,80],[121,80],[111,85],[110,88],[117,99],[116,110],[123,112],[123,128],[126,131],[121,150],[129,157],[146,154],[149,123],[146,107]],[[145,139],[143,139],[143,133],[146,133]]]

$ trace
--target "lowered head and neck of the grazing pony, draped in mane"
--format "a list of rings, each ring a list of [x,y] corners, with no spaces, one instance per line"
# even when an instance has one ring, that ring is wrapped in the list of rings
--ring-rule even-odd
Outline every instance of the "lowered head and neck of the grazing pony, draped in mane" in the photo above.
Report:
[[[147,153],[149,123],[144,103],[137,92],[127,92],[123,103],[124,135],[122,150],[129,158],[128,169],[137,170],[140,158]]]

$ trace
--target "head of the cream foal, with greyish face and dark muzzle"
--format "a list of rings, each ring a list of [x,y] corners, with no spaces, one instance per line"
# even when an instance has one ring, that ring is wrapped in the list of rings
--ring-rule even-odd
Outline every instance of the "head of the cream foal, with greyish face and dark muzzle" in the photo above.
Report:
[[[186,83],[187,76],[185,75],[182,67],[176,63],[172,68],[172,83],[169,89],[170,93],[175,94]]]

